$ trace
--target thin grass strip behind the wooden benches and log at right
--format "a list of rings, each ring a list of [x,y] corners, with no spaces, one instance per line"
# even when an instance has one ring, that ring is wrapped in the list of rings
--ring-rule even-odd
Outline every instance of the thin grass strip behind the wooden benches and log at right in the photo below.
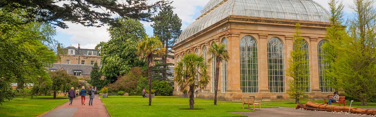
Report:
[[[301,101],[300,103],[304,104],[307,101]],[[319,104],[324,104],[324,101],[311,101]],[[351,107],[356,108],[376,108],[376,103],[368,102],[368,106],[361,106],[361,102],[353,102]],[[277,107],[296,107],[295,102],[261,102],[261,105],[277,106]],[[332,105],[338,106],[338,103],[333,103]],[[343,106],[343,104],[341,104]],[[350,101],[346,101],[346,106],[350,106]]]

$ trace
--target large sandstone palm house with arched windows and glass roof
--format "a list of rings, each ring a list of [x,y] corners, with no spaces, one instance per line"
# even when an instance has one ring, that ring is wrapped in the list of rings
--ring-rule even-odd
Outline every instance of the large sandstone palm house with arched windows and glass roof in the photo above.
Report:
[[[334,92],[323,77],[327,65],[321,48],[329,17],[312,0],[211,0],[172,49],[177,62],[190,52],[208,60],[212,43],[227,45],[230,60],[221,63],[220,71],[215,71],[214,62],[208,63],[212,81],[205,89],[197,89],[196,98],[214,98],[214,74],[220,72],[219,100],[235,101],[242,96],[287,100],[291,77],[286,70],[293,50],[294,25],[301,23],[305,40],[302,48],[308,51],[309,59],[306,94],[310,99],[323,99]],[[181,96],[182,92],[174,90],[173,95]]]

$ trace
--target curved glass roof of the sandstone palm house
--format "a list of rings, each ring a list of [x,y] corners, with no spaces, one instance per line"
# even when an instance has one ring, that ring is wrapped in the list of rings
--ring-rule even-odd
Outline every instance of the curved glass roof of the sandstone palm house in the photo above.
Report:
[[[312,0],[210,0],[177,43],[230,15],[317,22],[329,22],[330,17],[323,6]]]

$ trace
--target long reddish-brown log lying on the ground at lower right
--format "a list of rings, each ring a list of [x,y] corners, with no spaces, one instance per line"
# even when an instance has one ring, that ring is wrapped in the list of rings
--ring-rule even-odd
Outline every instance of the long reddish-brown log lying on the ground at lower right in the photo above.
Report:
[[[348,112],[355,114],[376,115],[376,110],[361,109],[355,107],[339,107],[335,105],[318,104],[315,102],[307,102],[306,104],[298,104],[295,109],[304,108],[305,110],[328,111],[328,112]]]

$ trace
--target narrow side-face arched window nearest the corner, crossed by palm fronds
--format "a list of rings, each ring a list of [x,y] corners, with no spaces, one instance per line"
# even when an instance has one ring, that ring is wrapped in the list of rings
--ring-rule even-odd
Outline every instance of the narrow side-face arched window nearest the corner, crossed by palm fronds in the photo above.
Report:
[[[227,49],[227,38],[223,37],[221,43],[226,45]],[[221,91],[222,93],[226,93],[227,90],[227,61],[222,61],[221,65]]]

